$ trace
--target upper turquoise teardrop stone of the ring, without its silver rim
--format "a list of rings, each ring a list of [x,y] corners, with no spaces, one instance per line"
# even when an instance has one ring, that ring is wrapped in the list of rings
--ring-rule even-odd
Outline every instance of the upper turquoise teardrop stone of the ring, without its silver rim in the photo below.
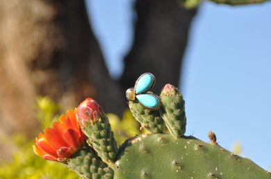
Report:
[[[149,74],[142,75],[136,82],[136,93],[143,93],[147,91],[153,83],[153,78]]]

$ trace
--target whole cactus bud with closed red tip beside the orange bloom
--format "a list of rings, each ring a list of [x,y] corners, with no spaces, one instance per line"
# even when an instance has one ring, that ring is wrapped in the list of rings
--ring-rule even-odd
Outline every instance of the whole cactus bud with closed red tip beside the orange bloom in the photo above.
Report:
[[[88,98],[81,102],[76,116],[83,133],[88,137],[88,141],[97,151],[98,156],[108,162],[113,162],[117,155],[117,142],[101,106],[95,100]]]

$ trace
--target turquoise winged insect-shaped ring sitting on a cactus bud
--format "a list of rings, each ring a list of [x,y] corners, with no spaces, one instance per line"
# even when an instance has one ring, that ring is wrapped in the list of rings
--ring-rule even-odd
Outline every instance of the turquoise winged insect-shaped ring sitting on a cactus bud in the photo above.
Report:
[[[157,110],[161,106],[161,99],[158,95],[149,91],[155,84],[155,77],[151,73],[144,73],[138,80],[134,88],[126,91],[126,98],[129,101],[136,101],[150,110]]]

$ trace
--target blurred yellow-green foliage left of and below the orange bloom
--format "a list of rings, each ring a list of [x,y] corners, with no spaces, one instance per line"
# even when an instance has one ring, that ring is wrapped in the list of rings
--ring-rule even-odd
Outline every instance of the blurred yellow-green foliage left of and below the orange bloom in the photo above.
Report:
[[[55,104],[49,97],[38,97],[35,104],[36,117],[40,120],[41,129],[51,127],[52,122],[60,116],[60,105]],[[38,133],[37,133],[38,136]],[[69,171],[65,164],[43,160],[33,152],[33,141],[22,134],[6,136],[3,141],[12,140],[17,147],[12,161],[0,164],[0,178],[79,178],[76,173]]]

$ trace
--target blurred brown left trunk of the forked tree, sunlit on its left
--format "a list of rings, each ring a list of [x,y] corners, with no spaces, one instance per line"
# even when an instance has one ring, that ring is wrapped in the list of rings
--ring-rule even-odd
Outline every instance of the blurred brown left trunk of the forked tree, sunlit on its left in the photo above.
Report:
[[[97,84],[98,82],[98,84]],[[102,82],[102,83],[101,83]],[[63,109],[113,84],[80,1],[0,1],[0,138],[38,134],[37,95]],[[12,148],[0,142],[0,159]]]

